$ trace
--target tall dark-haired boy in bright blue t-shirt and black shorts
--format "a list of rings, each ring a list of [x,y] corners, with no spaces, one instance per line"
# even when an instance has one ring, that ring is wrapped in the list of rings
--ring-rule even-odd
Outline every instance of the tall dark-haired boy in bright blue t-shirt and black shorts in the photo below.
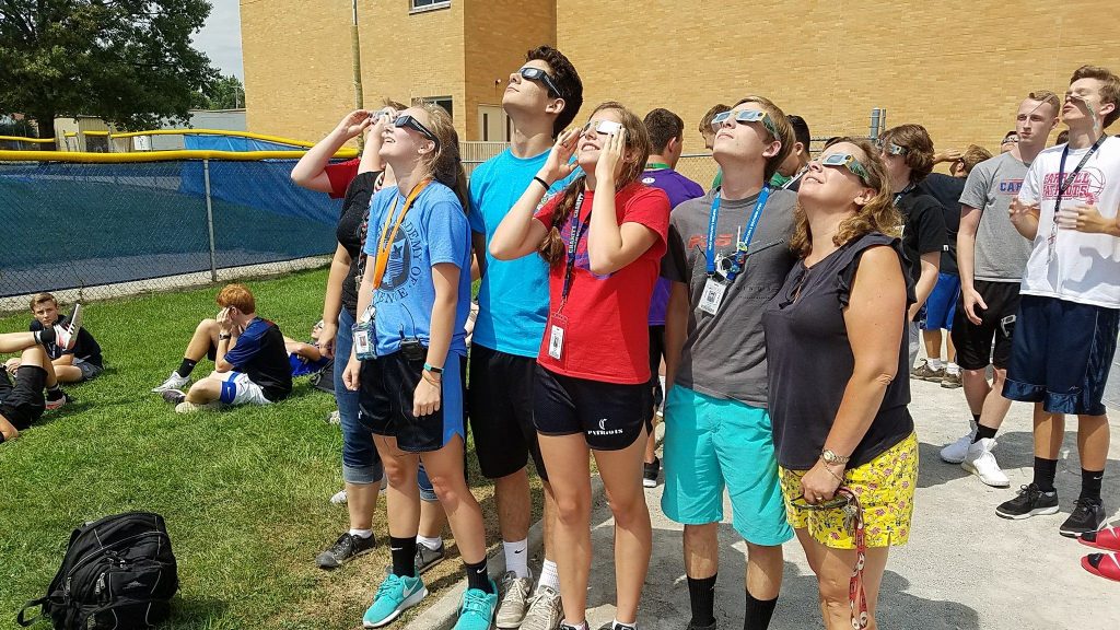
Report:
[[[502,506],[498,528],[506,573],[496,615],[498,628],[522,623],[556,628],[561,608],[559,575],[548,539],[536,596],[528,605],[533,587],[526,557],[532,503],[525,466],[530,456],[544,482],[544,518],[556,518],[556,501],[533,425],[534,371],[548,317],[549,270],[539,256],[496,260],[488,245],[521,195],[540,185],[534,177],[582,102],[582,82],[563,54],[550,46],[530,50],[525,64],[510,75],[502,98],[502,106],[513,121],[510,149],[476,168],[470,177],[470,230],[482,278],[468,396],[475,455],[483,475],[494,480]],[[550,195],[563,191],[573,177],[554,183]],[[545,531],[550,529],[545,527]]]

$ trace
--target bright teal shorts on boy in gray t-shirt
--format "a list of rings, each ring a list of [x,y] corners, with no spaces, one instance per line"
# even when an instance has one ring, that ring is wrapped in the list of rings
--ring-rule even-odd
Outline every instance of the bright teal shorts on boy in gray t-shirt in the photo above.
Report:
[[[664,465],[661,509],[670,519],[724,520],[727,488],[731,525],[747,543],[774,546],[793,538],[766,409],[673,386],[665,400]]]

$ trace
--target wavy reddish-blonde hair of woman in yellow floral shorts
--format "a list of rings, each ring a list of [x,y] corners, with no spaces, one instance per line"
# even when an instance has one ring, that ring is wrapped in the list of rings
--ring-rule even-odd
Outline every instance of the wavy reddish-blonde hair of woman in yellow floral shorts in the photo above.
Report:
[[[883,165],[879,150],[865,138],[839,138],[833,145],[839,142],[856,145],[864,152],[864,157],[852,157],[857,158],[867,170],[867,180],[864,182],[864,185],[872,188],[875,196],[866,205],[858,206],[856,214],[840,223],[840,229],[832,237],[832,242],[837,247],[843,247],[849,241],[871,232],[899,235],[898,225],[902,224],[903,217],[898,213],[898,209],[895,207],[894,195],[890,194],[890,182],[887,178],[887,170]],[[805,211],[800,203],[793,217],[795,228],[793,238],[790,239],[790,249],[799,257],[805,258],[813,250],[813,233],[809,228]]]

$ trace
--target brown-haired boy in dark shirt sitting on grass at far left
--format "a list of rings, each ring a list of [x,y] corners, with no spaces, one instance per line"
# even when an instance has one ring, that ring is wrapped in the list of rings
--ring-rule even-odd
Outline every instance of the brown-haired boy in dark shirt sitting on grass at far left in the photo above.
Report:
[[[37,333],[56,325],[68,330],[73,318],[81,319],[81,315],[78,315],[81,308],[80,305],[75,305],[75,315],[71,317],[59,315],[58,300],[55,299],[55,296],[48,293],[40,293],[31,298],[31,315],[35,316],[35,319],[31,321],[29,330],[32,333]],[[72,348],[66,349],[63,346],[64,344],[59,344],[57,341],[43,344],[43,350],[46,351],[50,363],[54,365],[58,382],[87,381],[96,378],[104,370],[101,345],[93,339],[90,331],[82,327],[81,321],[74,328],[75,334]],[[20,361],[19,358],[9,359],[4,363],[4,367],[8,369],[8,372],[16,374],[16,371],[19,370]]]

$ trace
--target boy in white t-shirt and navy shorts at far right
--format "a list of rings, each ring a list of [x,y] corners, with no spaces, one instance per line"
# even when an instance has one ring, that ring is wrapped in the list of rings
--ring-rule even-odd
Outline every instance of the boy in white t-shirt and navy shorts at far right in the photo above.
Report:
[[[1034,247],[1023,275],[1004,396],[1035,404],[1034,481],[996,509],[1010,519],[1058,511],[1054,476],[1063,414],[1077,415],[1082,489],[1063,536],[1104,522],[1101,478],[1109,426],[1101,397],[1120,328],[1120,77],[1096,66],[1073,73],[1062,118],[1067,145],[1040,152],[1009,210]],[[1045,456],[1039,456],[1045,454]]]

